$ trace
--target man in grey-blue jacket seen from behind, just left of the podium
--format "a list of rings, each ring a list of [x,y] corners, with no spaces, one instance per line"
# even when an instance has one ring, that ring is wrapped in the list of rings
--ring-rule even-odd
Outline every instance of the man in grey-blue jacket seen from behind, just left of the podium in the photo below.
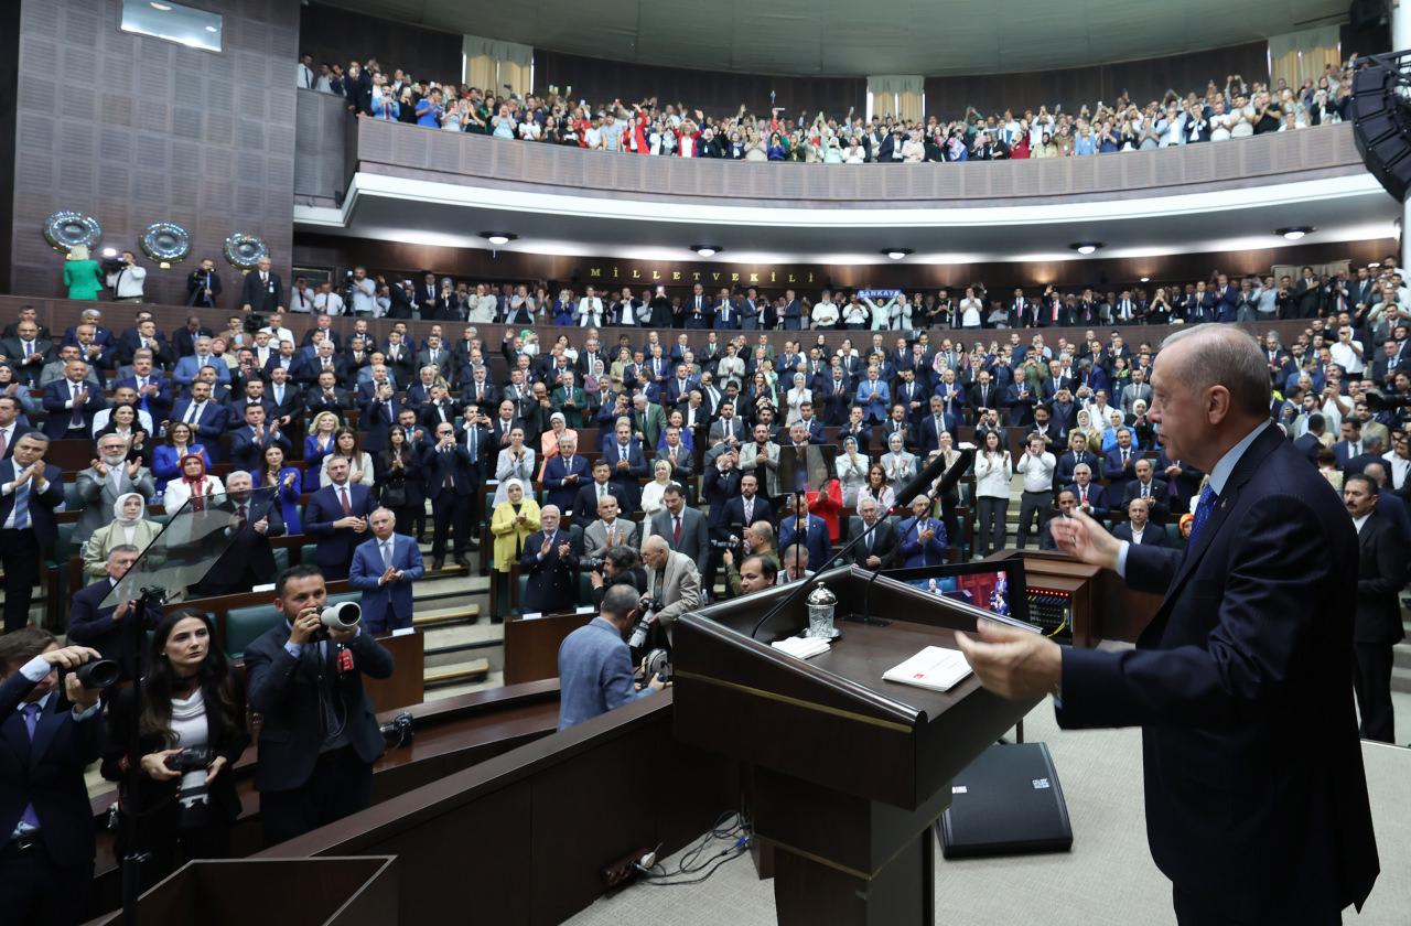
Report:
[[[600,614],[564,637],[559,647],[559,730],[666,687],[659,675],[642,686],[634,682],[632,655],[622,635],[641,617],[636,589],[614,586],[602,596]]]

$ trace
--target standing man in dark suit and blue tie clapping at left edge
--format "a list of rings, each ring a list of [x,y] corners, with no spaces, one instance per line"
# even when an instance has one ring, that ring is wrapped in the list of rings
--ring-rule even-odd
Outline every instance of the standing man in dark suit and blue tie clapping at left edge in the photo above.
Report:
[[[49,439],[38,431],[14,442],[0,460],[0,565],[4,566],[4,631],[30,623],[42,551],[59,539],[54,510],[63,501],[63,473],[44,463]]]

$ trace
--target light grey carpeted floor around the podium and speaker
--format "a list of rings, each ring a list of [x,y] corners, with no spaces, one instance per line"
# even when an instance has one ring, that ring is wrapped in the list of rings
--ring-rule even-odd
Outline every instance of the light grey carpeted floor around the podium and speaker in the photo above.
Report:
[[[1394,694],[1398,742],[1411,740],[1411,694]],[[964,926],[1168,926],[1171,885],[1147,851],[1137,730],[1062,733],[1053,707],[1024,721],[1027,741],[1046,741],[1068,802],[1072,853],[944,861],[937,853],[935,920]],[[1411,750],[1363,744],[1381,877],[1349,926],[1411,922]],[[725,862],[708,881],[686,886],[635,884],[574,916],[576,926],[768,926],[773,882],[755,878],[748,855]]]

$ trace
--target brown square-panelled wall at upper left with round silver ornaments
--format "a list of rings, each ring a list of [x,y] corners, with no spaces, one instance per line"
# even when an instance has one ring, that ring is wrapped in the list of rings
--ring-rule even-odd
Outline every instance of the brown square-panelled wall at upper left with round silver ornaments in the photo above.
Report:
[[[137,253],[154,222],[185,226],[192,258],[151,261],[147,294],[185,299],[185,274],[220,260],[227,236],[257,234],[277,268],[293,237],[299,0],[183,0],[224,16],[220,54],[119,30],[121,0],[21,0],[20,73],[82,73],[56,102],[16,85],[11,292],[55,292],[62,257],[41,236],[61,209],[103,224],[103,246]],[[3,263],[3,261],[0,261]]]

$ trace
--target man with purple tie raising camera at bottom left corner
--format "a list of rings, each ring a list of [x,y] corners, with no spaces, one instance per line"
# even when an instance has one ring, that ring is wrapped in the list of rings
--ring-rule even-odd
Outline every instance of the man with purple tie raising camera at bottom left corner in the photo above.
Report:
[[[75,669],[102,665],[92,662],[97,658],[87,647],[61,649],[38,627],[0,637],[0,910],[6,923],[85,919],[96,847],[83,769],[99,757],[103,727],[99,689],[85,687]]]

